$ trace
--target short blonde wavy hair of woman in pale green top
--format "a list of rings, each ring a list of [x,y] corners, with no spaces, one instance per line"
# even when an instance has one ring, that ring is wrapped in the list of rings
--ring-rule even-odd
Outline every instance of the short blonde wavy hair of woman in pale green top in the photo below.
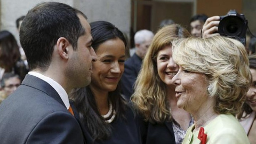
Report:
[[[215,97],[214,111],[236,115],[252,83],[245,47],[221,36],[180,39],[173,44],[173,59],[183,68],[204,73],[209,97]]]

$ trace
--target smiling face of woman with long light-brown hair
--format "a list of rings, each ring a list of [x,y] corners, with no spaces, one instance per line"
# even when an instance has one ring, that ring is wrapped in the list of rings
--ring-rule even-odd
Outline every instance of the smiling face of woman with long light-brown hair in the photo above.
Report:
[[[157,72],[161,80],[167,84],[171,85],[172,78],[177,74],[179,67],[172,59],[172,46],[165,46],[157,54]]]

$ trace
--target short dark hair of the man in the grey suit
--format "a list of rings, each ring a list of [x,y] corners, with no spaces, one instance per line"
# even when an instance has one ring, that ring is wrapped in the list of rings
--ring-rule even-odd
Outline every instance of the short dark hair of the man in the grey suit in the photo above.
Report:
[[[85,29],[75,8],[57,2],[41,3],[29,10],[20,28],[20,43],[25,51],[30,70],[43,71],[50,66],[54,45],[65,37],[77,49],[77,40]]]

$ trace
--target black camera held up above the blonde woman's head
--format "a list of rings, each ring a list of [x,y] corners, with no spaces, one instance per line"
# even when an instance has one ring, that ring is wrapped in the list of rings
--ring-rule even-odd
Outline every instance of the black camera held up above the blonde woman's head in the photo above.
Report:
[[[227,15],[220,16],[219,34],[235,38],[245,45],[247,23],[243,14],[230,10]]]

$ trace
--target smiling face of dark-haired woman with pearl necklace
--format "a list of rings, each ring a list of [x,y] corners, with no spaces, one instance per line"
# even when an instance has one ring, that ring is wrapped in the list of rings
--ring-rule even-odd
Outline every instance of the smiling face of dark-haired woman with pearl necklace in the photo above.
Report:
[[[119,39],[110,39],[99,45],[93,62],[90,87],[98,91],[114,91],[124,72],[125,45]]]

